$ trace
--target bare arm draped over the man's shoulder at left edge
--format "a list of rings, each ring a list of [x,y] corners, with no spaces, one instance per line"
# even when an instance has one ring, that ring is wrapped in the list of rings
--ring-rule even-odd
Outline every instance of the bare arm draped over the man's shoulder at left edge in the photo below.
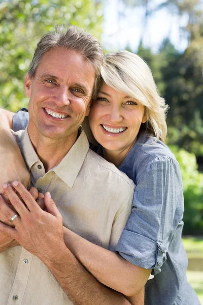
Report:
[[[12,112],[0,109],[0,193],[4,182],[20,180],[26,188],[30,185],[29,172],[10,130],[12,118]]]

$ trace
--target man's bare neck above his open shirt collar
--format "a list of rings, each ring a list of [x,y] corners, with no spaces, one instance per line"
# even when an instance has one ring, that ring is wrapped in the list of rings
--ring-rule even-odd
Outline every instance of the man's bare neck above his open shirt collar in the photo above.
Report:
[[[50,139],[29,132],[28,135],[35,151],[44,165],[45,172],[58,165],[77,140],[78,131],[67,139]]]

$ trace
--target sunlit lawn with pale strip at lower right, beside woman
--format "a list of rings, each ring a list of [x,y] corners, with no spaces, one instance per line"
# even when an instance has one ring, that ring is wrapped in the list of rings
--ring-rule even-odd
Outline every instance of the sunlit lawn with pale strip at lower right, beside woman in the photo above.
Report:
[[[188,256],[187,279],[203,305],[203,237],[184,237],[183,243]]]

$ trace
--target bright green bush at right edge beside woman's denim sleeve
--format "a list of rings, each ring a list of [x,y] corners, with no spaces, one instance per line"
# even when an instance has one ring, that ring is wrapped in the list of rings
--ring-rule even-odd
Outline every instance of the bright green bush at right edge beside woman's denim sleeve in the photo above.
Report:
[[[185,235],[203,234],[203,174],[197,170],[196,157],[177,146],[170,146],[181,169],[184,189],[184,228]]]

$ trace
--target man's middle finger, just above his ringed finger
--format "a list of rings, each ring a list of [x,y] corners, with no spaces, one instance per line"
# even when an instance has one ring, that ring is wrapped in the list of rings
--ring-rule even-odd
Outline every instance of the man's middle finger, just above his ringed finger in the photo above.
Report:
[[[20,198],[18,197],[18,195],[15,193],[15,191],[12,189],[12,187],[10,185],[8,185],[7,183],[4,183],[3,188],[4,188],[4,194],[6,194],[8,196],[11,204],[16,209],[16,211],[18,212],[19,215],[22,215],[23,213],[28,212],[26,206],[20,200]],[[28,192],[28,194],[29,194],[29,192]],[[21,194],[20,194],[20,196],[21,196]],[[32,198],[32,196],[30,194],[29,194],[29,196]]]

